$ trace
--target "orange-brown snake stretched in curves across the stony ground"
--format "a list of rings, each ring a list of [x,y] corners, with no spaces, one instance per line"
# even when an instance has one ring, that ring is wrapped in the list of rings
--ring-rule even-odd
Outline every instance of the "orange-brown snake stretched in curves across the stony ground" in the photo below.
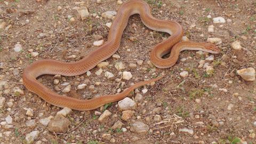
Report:
[[[103,45],[85,55],[83,59],[73,62],[52,59],[37,60],[23,70],[23,85],[51,105],[85,111],[97,109],[107,103],[122,100],[139,86],[158,81],[164,75],[135,83],[121,93],[101,95],[92,99],[77,99],[61,95],[37,81],[37,77],[46,74],[62,76],[82,75],[86,71],[93,69],[98,63],[110,58],[118,50],[123,31],[127,26],[129,18],[134,14],[139,14],[141,21],[149,29],[170,34],[168,38],[158,43],[149,54],[151,63],[157,68],[172,67],[178,61],[179,53],[183,50],[197,50],[214,54],[220,52],[218,47],[211,43],[181,42],[184,31],[178,22],[157,19],[151,15],[150,6],[146,2],[132,0],[123,3],[119,7],[109,29],[107,41]],[[170,56],[163,58],[167,54],[170,54]]]

